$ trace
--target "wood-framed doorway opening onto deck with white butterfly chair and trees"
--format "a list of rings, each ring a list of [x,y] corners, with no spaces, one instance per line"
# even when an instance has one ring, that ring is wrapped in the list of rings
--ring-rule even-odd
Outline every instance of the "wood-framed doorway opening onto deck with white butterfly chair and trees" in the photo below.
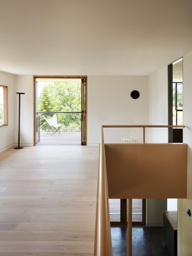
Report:
[[[87,77],[34,76],[34,145],[87,144]]]

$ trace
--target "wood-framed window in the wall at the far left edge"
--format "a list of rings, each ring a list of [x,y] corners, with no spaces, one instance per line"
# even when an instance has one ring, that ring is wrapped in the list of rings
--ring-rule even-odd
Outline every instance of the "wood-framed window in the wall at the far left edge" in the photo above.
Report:
[[[0,127],[8,125],[7,86],[0,85]]]

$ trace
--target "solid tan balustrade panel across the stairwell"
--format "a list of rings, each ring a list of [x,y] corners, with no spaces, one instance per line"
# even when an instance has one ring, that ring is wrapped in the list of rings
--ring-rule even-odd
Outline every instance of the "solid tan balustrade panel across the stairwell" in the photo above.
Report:
[[[105,144],[109,198],[186,198],[187,144]]]

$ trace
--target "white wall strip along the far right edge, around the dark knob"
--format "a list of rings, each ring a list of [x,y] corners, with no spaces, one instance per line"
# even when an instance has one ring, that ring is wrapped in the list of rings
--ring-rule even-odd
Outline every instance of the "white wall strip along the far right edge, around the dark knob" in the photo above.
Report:
[[[184,216],[183,210],[192,212],[192,52],[183,57],[183,142],[188,144],[187,199],[178,200],[178,256],[192,255],[192,217]]]

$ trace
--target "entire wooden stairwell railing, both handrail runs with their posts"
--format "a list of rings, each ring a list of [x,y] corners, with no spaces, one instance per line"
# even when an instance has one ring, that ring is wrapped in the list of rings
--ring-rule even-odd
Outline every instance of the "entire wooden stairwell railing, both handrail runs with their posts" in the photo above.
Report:
[[[143,129],[143,144],[145,144],[145,128],[184,128],[185,125],[102,125],[99,152],[99,171],[97,183],[97,206],[95,222],[94,256],[112,256],[112,238],[109,210],[108,178],[106,173],[106,159],[103,128],[139,127]],[[127,255],[132,255],[132,199],[129,199],[127,223]]]

